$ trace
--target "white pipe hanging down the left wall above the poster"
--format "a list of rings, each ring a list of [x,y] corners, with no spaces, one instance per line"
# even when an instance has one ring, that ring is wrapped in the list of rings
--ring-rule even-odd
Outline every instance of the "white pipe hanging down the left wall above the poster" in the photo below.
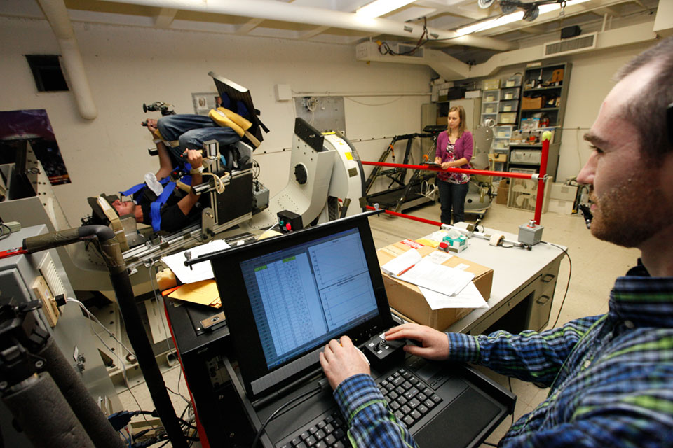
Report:
[[[86,77],[82,56],[72,29],[63,0],[37,0],[51,25],[61,49],[62,62],[67,73],[70,88],[79,109],[79,114],[86,120],[94,120],[98,109]]]

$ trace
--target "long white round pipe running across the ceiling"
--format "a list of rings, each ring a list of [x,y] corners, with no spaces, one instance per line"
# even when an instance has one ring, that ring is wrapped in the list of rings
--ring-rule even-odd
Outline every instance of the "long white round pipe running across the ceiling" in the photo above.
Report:
[[[344,13],[337,10],[325,10],[310,6],[299,6],[281,1],[265,0],[104,0],[114,3],[154,6],[176,10],[189,10],[210,14],[229,14],[241,17],[281,20],[285,22],[305,23],[323,27],[353,29],[376,34],[400,36],[410,41],[417,40],[423,34],[421,25],[396,22],[381,18],[363,18],[355,13]],[[518,45],[508,41],[480,36],[458,36],[455,31],[428,28],[428,33],[435,39],[450,39],[445,43],[467,45],[489,50],[515,50]],[[435,37],[436,36],[436,37]],[[432,38],[430,39],[432,41]]]

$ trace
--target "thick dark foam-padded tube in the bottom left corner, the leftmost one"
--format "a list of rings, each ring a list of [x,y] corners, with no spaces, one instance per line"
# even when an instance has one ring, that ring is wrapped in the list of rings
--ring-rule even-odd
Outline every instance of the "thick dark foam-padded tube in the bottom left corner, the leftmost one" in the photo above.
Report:
[[[48,372],[33,375],[2,400],[34,447],[95,448]]]

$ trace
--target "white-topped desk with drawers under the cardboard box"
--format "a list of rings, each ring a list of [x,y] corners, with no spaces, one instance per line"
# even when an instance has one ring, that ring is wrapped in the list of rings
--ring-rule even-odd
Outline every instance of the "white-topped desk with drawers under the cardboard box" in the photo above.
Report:
[[[487,228],[485,233],[503,233]],[[517,235],[503,233],[517,241]],[[470,335],[491,330],[521,332],[542,330],[549,321],[563,251],[549,244],[536,244],[530,251],[489,245],[485,239],[470,238],[458,256],[493,269],[489,309],[475,309],[447,331]]]

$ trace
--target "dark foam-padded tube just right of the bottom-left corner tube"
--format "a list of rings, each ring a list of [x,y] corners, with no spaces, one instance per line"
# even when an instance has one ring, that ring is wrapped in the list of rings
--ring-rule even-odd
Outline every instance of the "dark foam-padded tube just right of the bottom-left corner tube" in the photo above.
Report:
[[[97,448],[123,448],[118,433],[112,428],[100,407],[91,398],[83,381],[70,366],[54,339],[49,338],[39,356],[47,360],[47,370],[83,428]],[[57,414],[55,414],[57,415]]]

